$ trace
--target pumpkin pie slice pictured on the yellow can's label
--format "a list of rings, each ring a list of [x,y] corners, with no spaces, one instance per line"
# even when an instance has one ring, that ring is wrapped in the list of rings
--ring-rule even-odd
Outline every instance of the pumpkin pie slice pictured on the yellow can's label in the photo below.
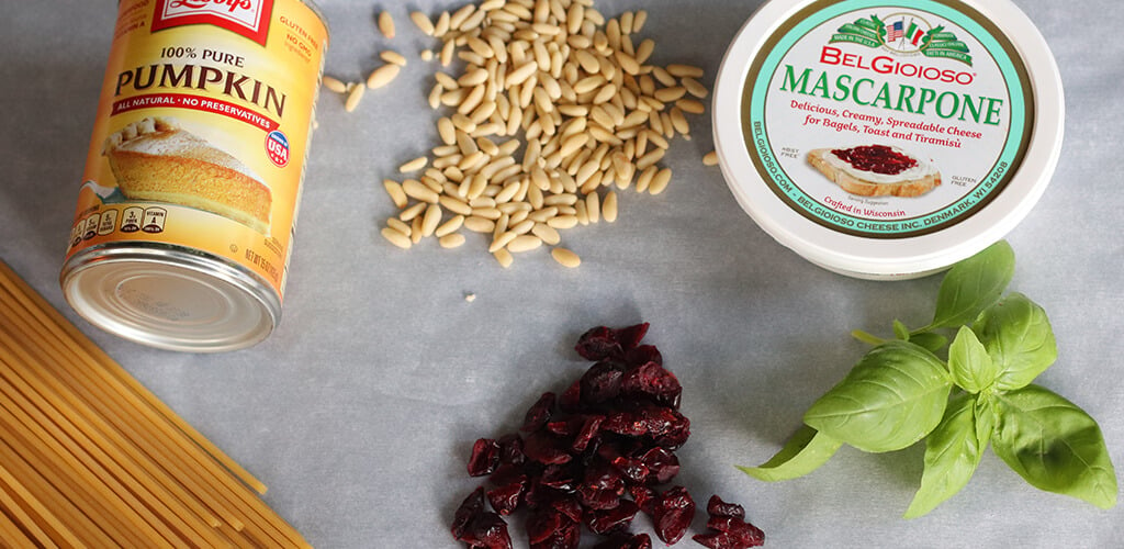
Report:
[[[269,234],[269,187],[238,159],[172,118],[125,126],[106,140],[102,154],[128,200],[188,206]]]

